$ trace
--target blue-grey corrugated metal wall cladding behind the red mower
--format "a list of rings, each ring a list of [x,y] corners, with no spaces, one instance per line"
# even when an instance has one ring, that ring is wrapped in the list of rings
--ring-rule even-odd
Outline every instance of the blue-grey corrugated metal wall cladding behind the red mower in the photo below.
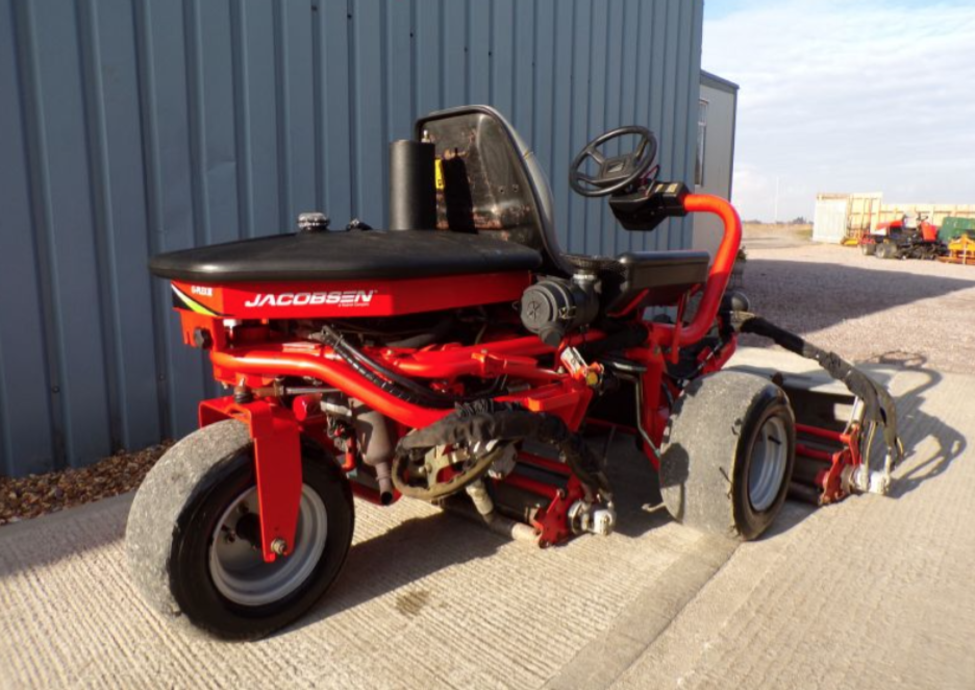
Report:
[[[573,252],[681,247],[570,196],[570,157],[648,123],[690,180],[702,0],[0,0],[0,470],[78,466],[195,426],[215,394],[146,258],[386,217],[420,113],[507,113]]]

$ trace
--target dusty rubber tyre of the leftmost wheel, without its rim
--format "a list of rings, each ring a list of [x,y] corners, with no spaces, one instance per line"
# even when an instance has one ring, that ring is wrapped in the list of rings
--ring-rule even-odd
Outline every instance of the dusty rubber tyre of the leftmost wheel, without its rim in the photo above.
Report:
[[[210,544],[224,509],[254,486],[253,449],[247,427],[236,421],[189,434],[146,476],[126,528],[130,571],[146,600],[167,616],[225,639],[262,637],[307,611],[338,576],[355,525],[345,475],[325,451],[303,444],[302,480],[328,515],[317,565],[280,600],[247,606],[224,597],[211,577]]]

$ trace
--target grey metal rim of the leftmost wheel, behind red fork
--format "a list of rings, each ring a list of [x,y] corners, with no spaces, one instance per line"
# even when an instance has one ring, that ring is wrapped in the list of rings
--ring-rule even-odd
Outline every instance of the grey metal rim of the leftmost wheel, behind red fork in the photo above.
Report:
[[[322,498],[304,484],[292,552],[265,563],[260,550],[236,534],[237,524],[249,513],[259,515],[256,487],[220,515],[210,545],[210,575],[217,591],[230,601],[262,606],[288,596],[311,577],[325,550],[329,519]]]

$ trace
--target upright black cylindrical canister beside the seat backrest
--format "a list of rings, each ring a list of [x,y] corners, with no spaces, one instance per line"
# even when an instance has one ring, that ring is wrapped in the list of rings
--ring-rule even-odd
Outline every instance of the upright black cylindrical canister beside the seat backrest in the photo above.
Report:
[[[389,144],[389,229],[437,226],[433,143],[401,139]]]

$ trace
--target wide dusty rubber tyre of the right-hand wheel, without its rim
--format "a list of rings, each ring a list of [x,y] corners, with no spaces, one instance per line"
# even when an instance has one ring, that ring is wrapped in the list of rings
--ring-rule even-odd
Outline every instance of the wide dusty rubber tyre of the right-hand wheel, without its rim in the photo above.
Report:
[[[774,501],[752,506],[749,470],[759,431],[772,416],[785,428],[786,466]],[[779,386],[753,374],[718,372],[689,384],[664,437],[660,493],[671,516],[701,532],[748,541],[785,503],[796,465],[796,418]]]

